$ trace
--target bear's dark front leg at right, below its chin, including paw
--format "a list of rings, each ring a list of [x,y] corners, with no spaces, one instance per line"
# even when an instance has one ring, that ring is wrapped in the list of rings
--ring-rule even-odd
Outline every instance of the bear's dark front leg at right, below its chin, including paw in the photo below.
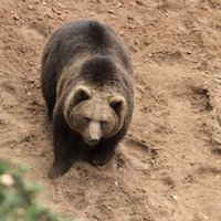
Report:
[[[93,166],[102,166],[106,165],[114,156],[115,148],[117,146],[117,143],[101,143],[92,149],[91,152],[91,165]]]

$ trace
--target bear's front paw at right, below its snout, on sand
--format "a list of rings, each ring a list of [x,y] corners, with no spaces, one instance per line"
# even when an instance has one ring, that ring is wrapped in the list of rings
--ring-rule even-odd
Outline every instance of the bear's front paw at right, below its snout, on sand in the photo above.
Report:
[[[106,165],[112,157],[114,156],[114,152],[101,152],[101,151],[92,151],[91,156],[91,165],[93,166],[102,166]]]

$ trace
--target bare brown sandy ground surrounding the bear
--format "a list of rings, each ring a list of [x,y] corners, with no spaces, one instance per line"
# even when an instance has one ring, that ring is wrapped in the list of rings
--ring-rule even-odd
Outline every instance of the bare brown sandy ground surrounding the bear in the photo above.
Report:
[[[136,108],[116,157],[48,179],[52,136],[40,56],[70,20],[108,22],[133,55]],[[77,221],[221,220],[220,0],[1,0],[0,156]]]

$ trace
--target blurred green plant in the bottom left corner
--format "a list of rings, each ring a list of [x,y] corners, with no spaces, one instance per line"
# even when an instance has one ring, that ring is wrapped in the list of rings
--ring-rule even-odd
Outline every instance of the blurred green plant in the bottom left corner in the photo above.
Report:
[[[54,213],[36,202],[38,186],[24,180],[25,168],[13,168],[0,159],[0,220],[59,221]]]

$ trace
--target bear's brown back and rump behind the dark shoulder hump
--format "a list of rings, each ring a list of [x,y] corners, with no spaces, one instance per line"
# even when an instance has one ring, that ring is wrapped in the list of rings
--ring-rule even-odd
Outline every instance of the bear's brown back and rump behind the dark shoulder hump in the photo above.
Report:
[[[52,34],[48,45],[51,54],[59,55],[61,67],[77,56],[101,54],[114,55],[125,69],[131,69],[130,57],[118,35],[107,24],[94,20],[62,25]]]

